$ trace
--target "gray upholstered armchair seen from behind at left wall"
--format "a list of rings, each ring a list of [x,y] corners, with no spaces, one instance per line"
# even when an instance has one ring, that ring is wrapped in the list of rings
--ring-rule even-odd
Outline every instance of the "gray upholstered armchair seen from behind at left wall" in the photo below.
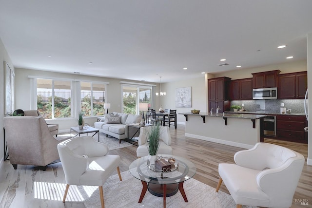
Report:
[[[41,116],[4,117],[5,140],[14,169],[17,165],[39,166],[42,170],[59,159],[57,145],[66,138],[53,137]]]

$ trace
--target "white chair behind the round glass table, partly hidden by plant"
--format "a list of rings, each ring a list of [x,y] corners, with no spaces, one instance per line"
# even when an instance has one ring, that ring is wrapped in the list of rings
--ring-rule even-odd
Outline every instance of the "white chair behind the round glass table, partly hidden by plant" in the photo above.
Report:
[[[149,155],[147,150],[147,132],[151,131],[152,126],[142,127],[138,135],[137,157]],[[160,142],[157,154],[172,154],[170,129],[167,126],[160,126]]]

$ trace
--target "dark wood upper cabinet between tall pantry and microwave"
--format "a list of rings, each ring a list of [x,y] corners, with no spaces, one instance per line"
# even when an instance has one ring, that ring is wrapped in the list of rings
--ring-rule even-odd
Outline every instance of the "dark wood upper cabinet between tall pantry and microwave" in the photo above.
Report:
[[[230,100],[252,100],[253,78],[231,80],[229,96]]]

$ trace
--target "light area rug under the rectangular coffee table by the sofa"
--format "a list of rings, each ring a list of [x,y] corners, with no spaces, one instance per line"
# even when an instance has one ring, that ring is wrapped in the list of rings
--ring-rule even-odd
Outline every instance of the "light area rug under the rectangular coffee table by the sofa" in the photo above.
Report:
[[[89,133],[89,135],[92,135],[93,133]],[[60,134],[61,136],[70,136],[70,133],[64,133],[64,134]],[[80,134],[80,136],[86,136],[87,134]],[[72,136],[74,136],[74,134],[72,134]],[[98,134],[94,135],[93,138],[98,141]],[[108,146],[109,150],[116,150],[119,148],[124,148],[124,147],[129,147],[132,144],[128,143],[126,141],[121,140],[121,143],[119,144],[119,139],[108,136],[106,137],[105,133],[99,132],[99,142],[106,144]]]

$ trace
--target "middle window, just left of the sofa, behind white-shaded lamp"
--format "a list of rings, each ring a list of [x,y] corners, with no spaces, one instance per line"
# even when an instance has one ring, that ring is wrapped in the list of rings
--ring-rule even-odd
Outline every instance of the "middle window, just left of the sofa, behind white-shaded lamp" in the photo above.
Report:
[[[103,115],[105,85],[101,83],[80,82],[81,112],[84,116]]]

